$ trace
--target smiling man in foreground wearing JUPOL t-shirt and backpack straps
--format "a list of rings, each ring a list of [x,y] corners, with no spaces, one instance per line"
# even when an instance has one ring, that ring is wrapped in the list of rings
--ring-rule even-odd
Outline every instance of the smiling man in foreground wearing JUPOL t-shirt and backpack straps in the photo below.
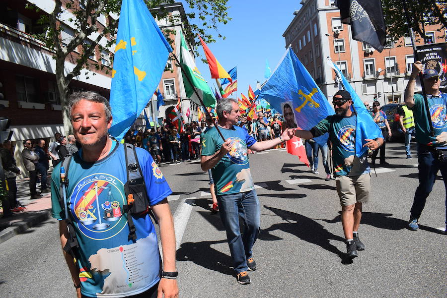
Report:
[[[177,298],[175,236],[166,196],[172,193],[149,152],[136,148],[146,183],[149,206],[158,219],[163,263],[155,228],[148,214],[133,216],[136,239],[129,238],[128,183],[124,145],[108,137],[112,124],[108,101],[96,92],[69,98],[74,135],[81,149],[71,157],[64,209],[61,208],[61,166],[53,170],[53,217],[59,220],[62,247],[74,232],[74,256],[64,252],[77,297]],[[71,232],[67,219],[73,222]],[[72,234],[73,235],[73,234]],[[70,242],[73,243],[73,242]],[[161,273],[161,274],[160,274]],[[158,296],[157,296],[158,295]]]

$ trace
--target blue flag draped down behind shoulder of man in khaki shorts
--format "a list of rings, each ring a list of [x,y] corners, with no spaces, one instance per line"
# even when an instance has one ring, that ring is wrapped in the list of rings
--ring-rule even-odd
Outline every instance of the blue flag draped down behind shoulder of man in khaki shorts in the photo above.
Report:
[[[367,143],[365,139],[375,139],[382,136],[382,131],[378,127],[377,123],[373,121],[373,118],[371,117],[370,113],[365,108],[364,103],[360,99],[360,97],[357,95],[357,93],[352,88],[351,84],[348,82],[348,80],[343,76],[340,69],[332,62],[332,60],[327,60],[327,63],[334,68],[335,74],[341,79],[343,89],[348,91],[349,94],[351,94],[353,105],[351,107],[354,107],[353,112],[357,114],[357,121],[356,121],[356,156],[362,157],[367,152],[368,148],[363,147]]]

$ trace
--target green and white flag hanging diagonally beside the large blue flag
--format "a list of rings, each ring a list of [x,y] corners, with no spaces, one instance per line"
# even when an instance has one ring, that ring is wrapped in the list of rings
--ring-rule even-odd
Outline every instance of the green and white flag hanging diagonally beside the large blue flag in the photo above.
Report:
[[[199,69],[197,69],[196,63],[194,62],[191,54],[189,53],[188,46],[186,45],[185,38],[180,32],[181,46],[180,46],[180,64],[183,70],[186,72],[189,80],[192,82],[193,86],[188,82],[188,79],[183,74],[183,84],[185,85],[186,96],[193,100],[195,103],[200,105],[200,100],[197,98],[196,93],[193,88],[196,88],[197,93],[203,100],[206,107],[215,107],[216,98],[214,97],[211,88],[207,85],[207,82],[200,74]]]

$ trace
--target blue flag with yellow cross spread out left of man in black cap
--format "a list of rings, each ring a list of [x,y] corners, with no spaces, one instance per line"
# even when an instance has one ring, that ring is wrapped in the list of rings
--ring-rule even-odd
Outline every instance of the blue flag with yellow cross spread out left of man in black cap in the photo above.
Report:
[[[277,111],[283,113],[282,103],[292,105],[298,127],[309,130],[320,120],[334,114],[334,109],[307,69],[291,48],[270,76],[259,97],[266,99]],[[327,133],[315,138],[319,144],[327,141]]]

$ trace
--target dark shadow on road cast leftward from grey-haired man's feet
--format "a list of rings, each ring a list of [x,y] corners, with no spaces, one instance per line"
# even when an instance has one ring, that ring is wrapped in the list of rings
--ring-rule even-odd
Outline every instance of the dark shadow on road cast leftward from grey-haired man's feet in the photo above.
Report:
[[[182,243],[177,250],[177,261],[190,261],[213,271],[233,275],[231,257],[211,247],[218,243],[226,243],[226,239]]]

